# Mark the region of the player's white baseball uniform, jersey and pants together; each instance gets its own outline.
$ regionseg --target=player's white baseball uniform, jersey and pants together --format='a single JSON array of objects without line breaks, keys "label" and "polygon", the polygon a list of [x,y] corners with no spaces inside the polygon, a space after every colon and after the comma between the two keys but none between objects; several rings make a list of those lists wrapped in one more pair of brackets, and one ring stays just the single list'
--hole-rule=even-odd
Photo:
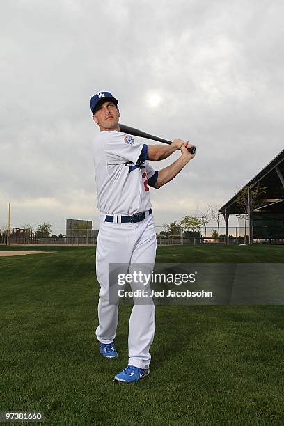
[{"label": "player's white baseball uniform, jersey and pants together", "polygon": [[[123,132],[102,131],[93,141],[100,210],[96,266],[101,288],[96,335],[102,343],[113,342],[118,325],[118,305],[109,303],[109,264],[126,264],[129,271],[135,263],[152,267],[155,264],[157,239],[148,183],[155,184],[157,171],[146,161],[147,152],[147,145],[137,143]],[[121,223],[122,216],[139,212],[145,212],[142,221]],[[109,215],[113,216],[113,223],[105,221]],[[136,284],[135,290],[137,285],[145,290],[143,283]],[[154,333],[154,304],[134,304],[129,319],[129,364],[148,367]]]}]

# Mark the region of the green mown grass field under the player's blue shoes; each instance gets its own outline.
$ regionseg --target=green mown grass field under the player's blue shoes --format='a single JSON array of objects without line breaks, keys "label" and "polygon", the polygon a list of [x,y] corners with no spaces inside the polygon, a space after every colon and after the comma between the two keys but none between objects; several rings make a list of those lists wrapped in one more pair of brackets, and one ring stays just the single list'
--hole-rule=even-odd
[{"label": "green mown grass field under the player's blue shoes", "polygon": [[[117,385],[131,308],[118,358],[102,358],[95,248],[9,249],[50,253],[0,258],[0,411],[43,411],[47,425],[284,424],[284,306],[157,306],[150,376]],[[284,246],[159,247],[157,262],[284,262]]]}]

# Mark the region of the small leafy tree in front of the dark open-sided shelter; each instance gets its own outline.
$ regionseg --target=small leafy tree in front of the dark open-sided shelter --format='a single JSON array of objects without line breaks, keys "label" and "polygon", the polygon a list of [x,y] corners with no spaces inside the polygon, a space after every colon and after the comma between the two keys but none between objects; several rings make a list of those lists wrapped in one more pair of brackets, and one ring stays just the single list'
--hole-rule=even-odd
[{"label": "small leafy tree in front of the dark open-sided shelter", "polygon": [[[265,194],[267,187],[260,187],[260,184],[251,184],[237,191],[236,203],[244,210],[244,244],[246,244],[246,214],[259,207],[262,203],[260,194]],[[249,205],[248,205],[249,194]]]}]

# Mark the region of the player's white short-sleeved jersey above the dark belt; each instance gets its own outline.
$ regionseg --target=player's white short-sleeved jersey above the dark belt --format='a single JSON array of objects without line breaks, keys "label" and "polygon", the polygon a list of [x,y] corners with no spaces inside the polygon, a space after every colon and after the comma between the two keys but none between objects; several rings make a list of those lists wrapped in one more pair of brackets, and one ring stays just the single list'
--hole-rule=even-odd
[{"label": "player's white short-sleeved jersey above the dark belt", "polygon": [[93,140],[97,207],[102,214],[130,216],[151,208],[148,179],[155,174],[148,161],[139,161],[143,143],[116,130],[102,131]]}]

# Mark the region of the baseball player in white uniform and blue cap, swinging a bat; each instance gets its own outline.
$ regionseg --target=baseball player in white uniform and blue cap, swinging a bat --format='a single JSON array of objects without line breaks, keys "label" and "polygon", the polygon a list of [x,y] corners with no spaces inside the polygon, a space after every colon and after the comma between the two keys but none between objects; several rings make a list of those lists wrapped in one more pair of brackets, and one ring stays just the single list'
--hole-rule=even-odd
[{"label": "baseball player in white uniform and blue cap, swinging a bat", "polygon": [[[195,157],[191,145],[175,139],[171,145],[146,145],[120,132],[118,100],[109,92],[90,99],[93,120],[100,127],[93,141],[93,161],[97,187],[100,227],[97,237],[96,272],[100,283],[99,325],[96,329],[100,353],[105,358],[118,356],[114,339],[118,325],[118,304],[109,303],[109,265],[155,265],[157,239],[150,188],[159,189]],[[180,150],[170,166],[155,171],[148,160],[162,160]],[[127,272],[127,271],[126,271]],[[143,288],[145,283],[136,283]],[[139,287],[140,286],[140,287]],[[133,288],[132,288],[133,290]],[[125,370],[116,374],[116,382],[134,382],[150,372],[150,345],[155,333],[155,306],[136,304],[129,319],[129,360]]]}]

